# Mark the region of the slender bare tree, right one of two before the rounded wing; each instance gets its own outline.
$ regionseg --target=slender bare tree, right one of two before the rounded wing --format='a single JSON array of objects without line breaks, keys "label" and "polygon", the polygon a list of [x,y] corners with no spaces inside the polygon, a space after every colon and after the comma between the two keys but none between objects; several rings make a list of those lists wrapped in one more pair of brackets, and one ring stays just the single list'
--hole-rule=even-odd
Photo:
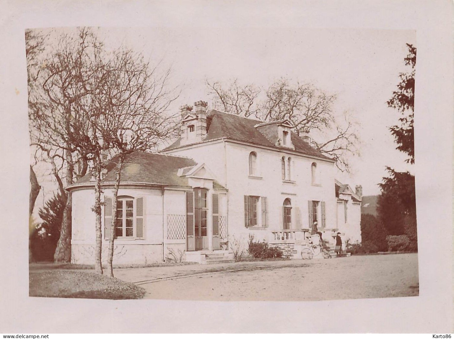
[{"label": "slender bare tree, right one of two before the rounded wing", "polygon": [[[178,98],[178,91],[168,85],[170,70],[161,72],[159,64],[152,67],[131,50],[115,51],[106,67],[109,75],[96,97],[102,110],[93,128],[102,138],[104,149],[116,154],[112,160],[116,163],[113,196],[116,206],[121,170],[128,155],[152,150],[159,142],[176,136],[179,114],[168,115],[168,108]],[[116,214],[114,208],[114,221]],[[111,277],[114,276],[114,238],[115,222],[112,222],[107,259]]]}]

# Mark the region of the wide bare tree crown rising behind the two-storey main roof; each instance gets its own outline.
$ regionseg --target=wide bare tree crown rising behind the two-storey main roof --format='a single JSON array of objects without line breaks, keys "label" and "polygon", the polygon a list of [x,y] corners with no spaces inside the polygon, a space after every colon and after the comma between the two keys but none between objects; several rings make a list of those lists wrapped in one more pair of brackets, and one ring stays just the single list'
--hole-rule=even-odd
[{"label": "wide bare tree crown rising behind the two-storey main roof", "polygon": [[280,79],[264,93],[254,85],[239,85],[238,80],[226,86],[207,81],[207,88],[214,108],[263,121],[290,120],[297,135],[310,136],[312,146],[334,158],[341,170],[348,171],[348,155],[358,153],[356,123],[346,112],[333,111],[336,95],[312,84],[291,85]]}]

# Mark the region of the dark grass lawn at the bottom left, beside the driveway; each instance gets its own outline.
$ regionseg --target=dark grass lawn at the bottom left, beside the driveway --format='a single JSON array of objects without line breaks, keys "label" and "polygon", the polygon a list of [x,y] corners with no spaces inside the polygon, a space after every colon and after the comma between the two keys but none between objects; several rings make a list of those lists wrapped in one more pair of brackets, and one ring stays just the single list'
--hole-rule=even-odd
[{"label": "dark grass lawn at the bottom left, beside the driveway", "polygon": [[30,271],[31,297],[141,299],[145,290],[120,279],[84,271]]}]

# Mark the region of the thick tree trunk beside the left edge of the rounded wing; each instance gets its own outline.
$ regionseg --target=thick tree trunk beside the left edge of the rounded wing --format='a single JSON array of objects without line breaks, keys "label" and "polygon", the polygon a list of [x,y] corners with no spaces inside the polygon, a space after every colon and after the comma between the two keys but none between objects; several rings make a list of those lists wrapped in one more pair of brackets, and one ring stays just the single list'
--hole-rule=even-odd
[{"label": "thick tree trunk beside the left edge of the rounded wing", "polygon": [[[70,151],[65,151],[66,160],[66,186],[73,184],[73,156]],[[54,253],[54,261],[61,263],[71,262],[71,194],[66,193],[66,204],[63,210],[63,219],[60,229],[60,238]]]}]

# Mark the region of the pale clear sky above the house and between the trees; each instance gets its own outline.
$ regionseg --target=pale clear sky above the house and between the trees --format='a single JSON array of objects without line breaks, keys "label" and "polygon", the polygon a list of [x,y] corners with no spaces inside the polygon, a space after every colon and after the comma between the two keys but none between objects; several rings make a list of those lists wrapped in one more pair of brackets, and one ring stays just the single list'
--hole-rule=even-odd
[{"label": "pale clear sky above the house and between the trees", "polygon": [[348,111],[360,126],[360,155],[350,159],[351,173],[338,172],[337,179],[374,195],[380,194],[377,184],[387,176],[386,166],[411,172],[388,130],[400,113],[386,101],[399,73],[410,70],[404,57],[406,43],[417,47],[413,30],[147,28],[100,34],[108,46],[122,43],[170,66],[174,83],[184,84],[179,105],[198,100],[210,105],[206,78],[263,88],[282,77],[311,82],[336,94],[335,111]]}]

